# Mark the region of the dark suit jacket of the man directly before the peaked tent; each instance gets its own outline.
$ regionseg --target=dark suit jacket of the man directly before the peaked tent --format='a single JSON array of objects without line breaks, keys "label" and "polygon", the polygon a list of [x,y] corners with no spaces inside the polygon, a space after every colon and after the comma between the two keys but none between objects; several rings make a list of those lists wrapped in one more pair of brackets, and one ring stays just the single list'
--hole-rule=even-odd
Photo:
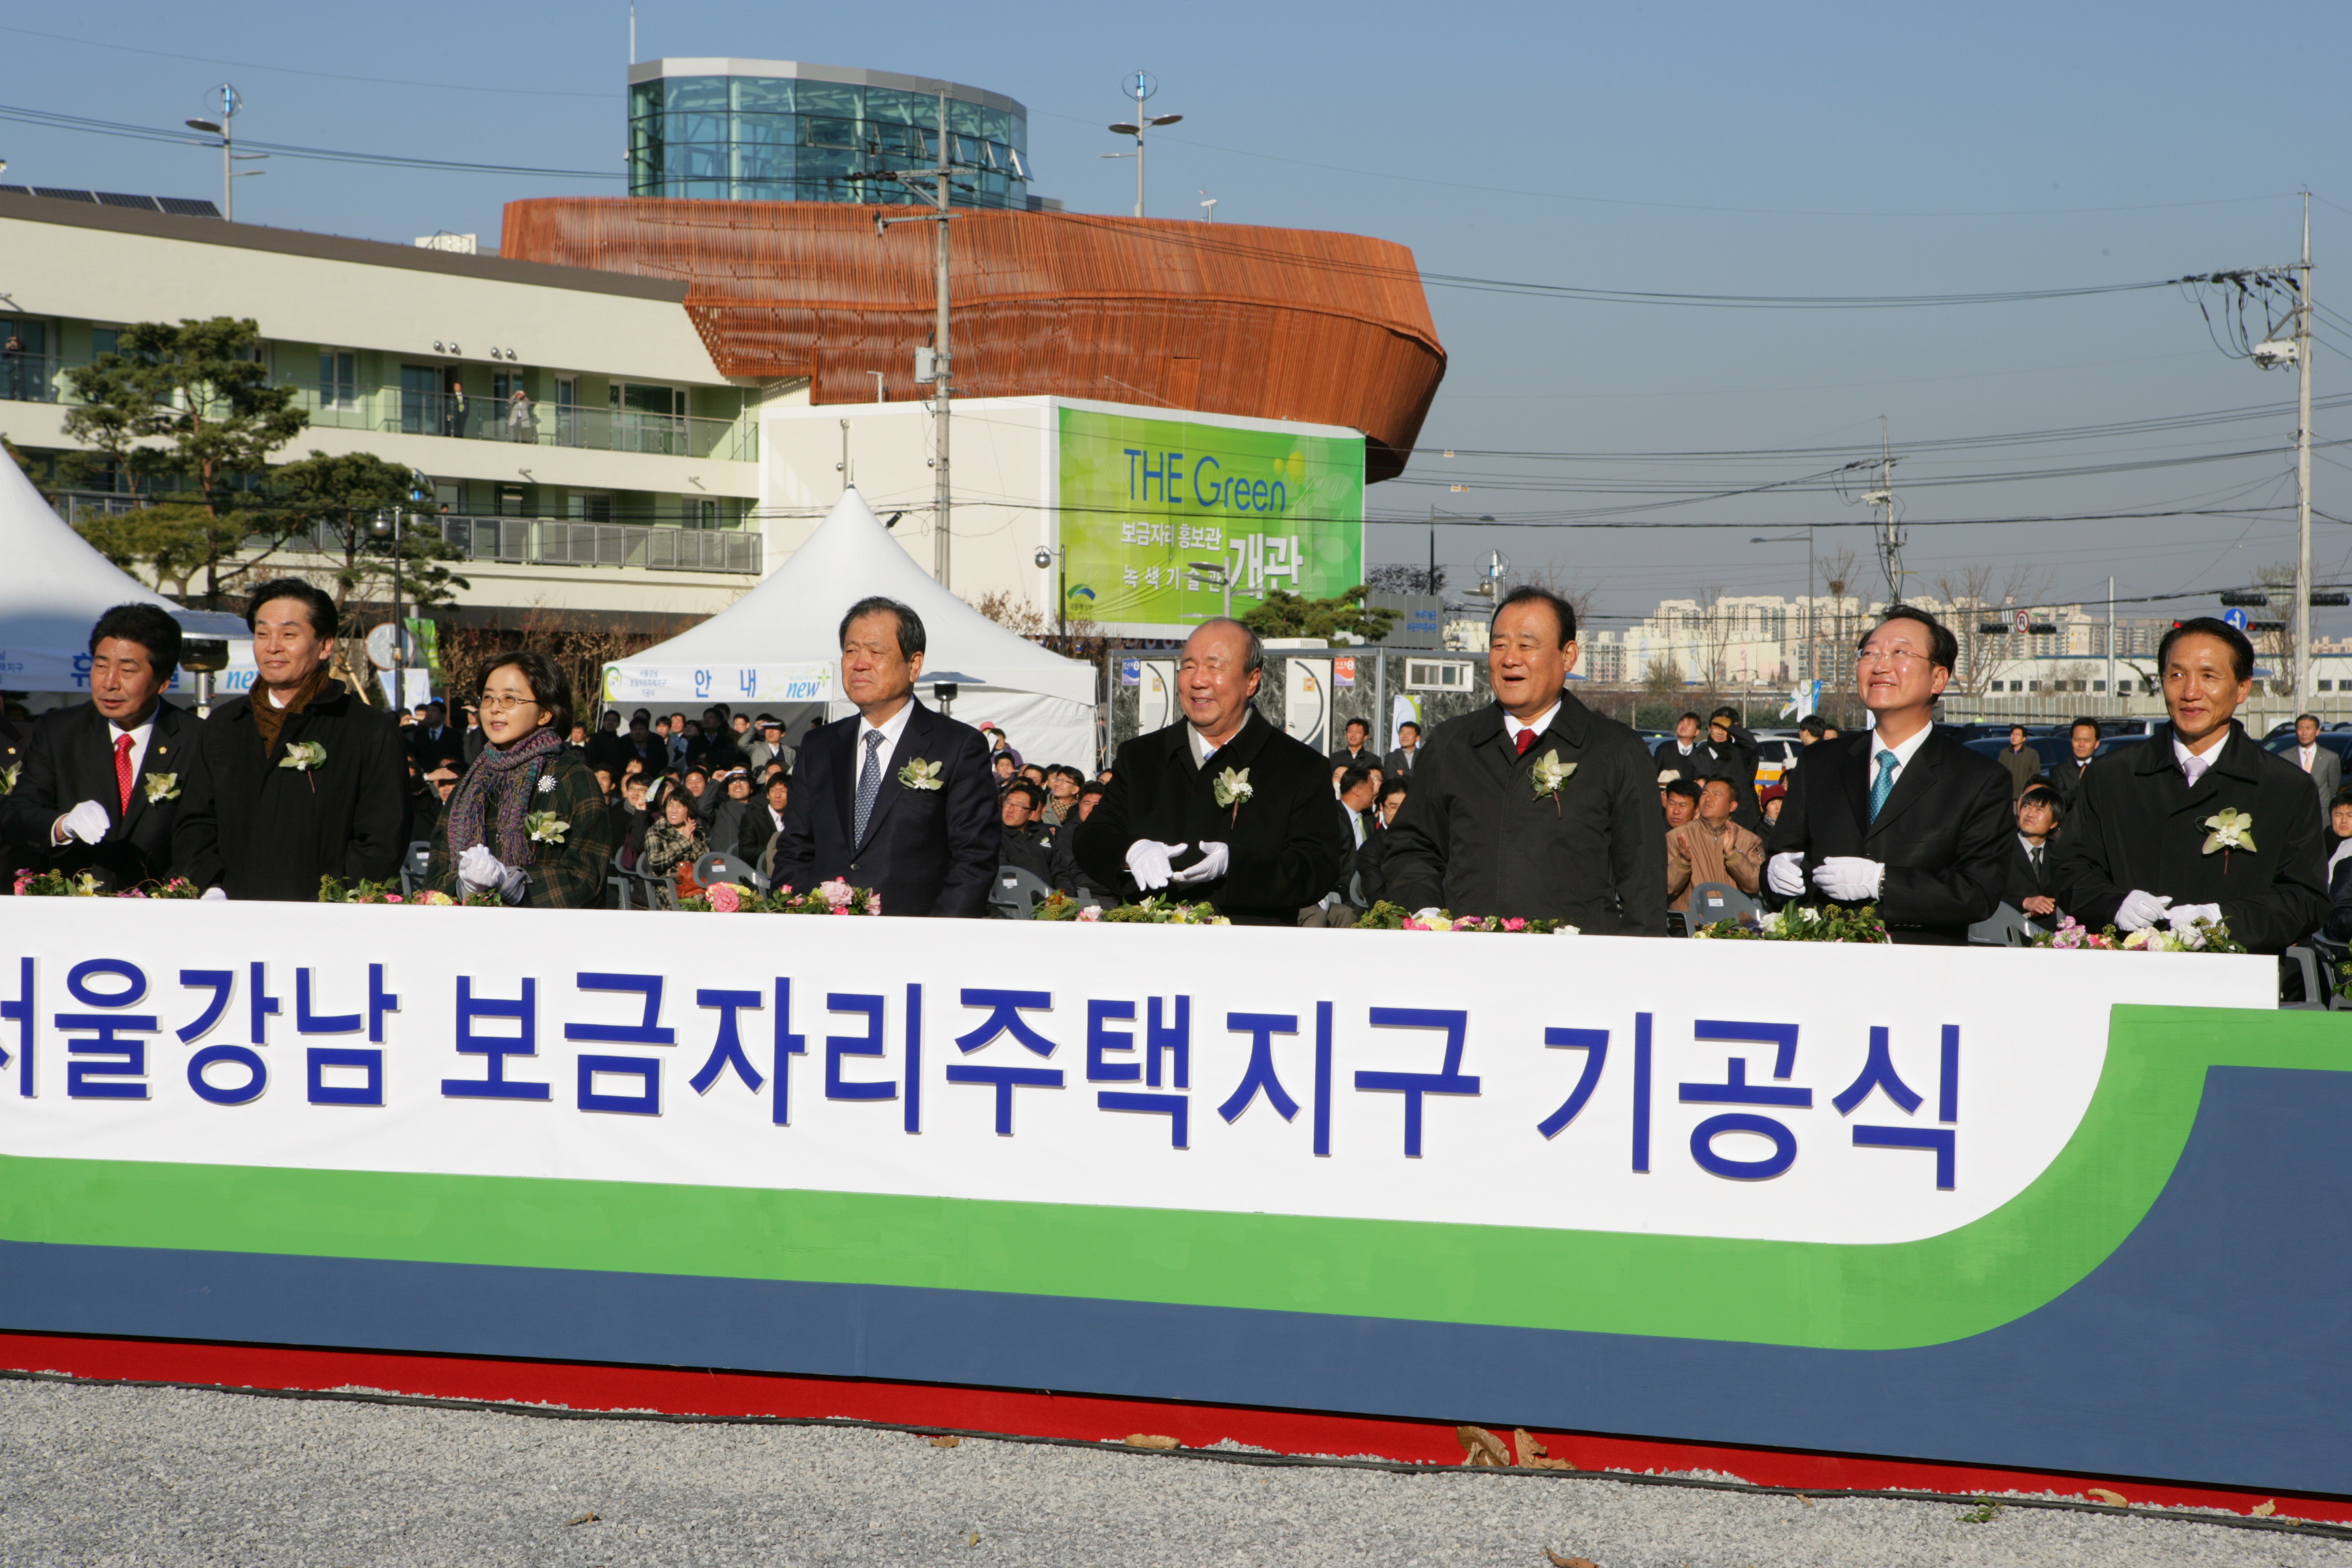
[{"label": "dark suit jacket of the man directly before the peaked tent", "polygon": [[[882,764],[882,792],[866,818],[866,842],[851,844],[858,804],[858,731],[849,715],[811,729],[800,748],[800,771],[783,802],[783,842],[776,844],[776,886],[807,893],[844,879],[873,889],[884,914],[988,912],[997,875],[997,785],[981,731],[915,705],[898,745]],[[898,769],[936,762],[936,790],[908,790]]]}]

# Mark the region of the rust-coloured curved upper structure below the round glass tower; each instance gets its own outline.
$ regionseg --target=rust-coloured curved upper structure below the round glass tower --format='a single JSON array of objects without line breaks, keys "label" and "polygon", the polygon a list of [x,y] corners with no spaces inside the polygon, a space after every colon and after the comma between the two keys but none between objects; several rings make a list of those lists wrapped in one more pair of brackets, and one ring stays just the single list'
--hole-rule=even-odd
[{"label": "rust-coloured curved upper structure below the round glass tower", "polygon": [[[727,376],[807,376],[814,402],[913,402],[931,341],[931,228],[837,202],[508,202],[501,254],[687,284]],[[1098,397],[1350,425],[1367,480],[1421,435],[1446,350],[1414,254],[1301,228],[985,212],[953,219],[960,397]]]}]

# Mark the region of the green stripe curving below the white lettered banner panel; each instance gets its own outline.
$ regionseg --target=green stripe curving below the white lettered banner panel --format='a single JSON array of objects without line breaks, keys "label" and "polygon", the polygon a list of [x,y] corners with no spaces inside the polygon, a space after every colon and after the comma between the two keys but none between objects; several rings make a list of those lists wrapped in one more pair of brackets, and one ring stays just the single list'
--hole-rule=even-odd
[{"label": "green stripe curving below the white lettered banner panel", "polygon": [[[2105,1260],[2171,1178],[2213,1065],[2345,1070],[2352,1030],[2119,1006],[2051,1168],[1973,1225],[1884,1246],[24,1157],[0,1164],[0,1237],[1898,1349],[2009,1324]],[[1966,1180],[1966,1126],[1959,1159]]]}]

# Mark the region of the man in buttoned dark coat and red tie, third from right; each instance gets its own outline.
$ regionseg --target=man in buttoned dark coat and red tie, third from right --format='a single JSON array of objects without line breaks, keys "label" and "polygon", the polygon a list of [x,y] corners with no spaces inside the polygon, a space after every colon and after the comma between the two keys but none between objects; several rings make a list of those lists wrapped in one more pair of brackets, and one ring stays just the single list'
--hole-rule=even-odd
[{"label": "man in buttoned dark coat and red tie, third from right", "polygon": [[1421,748],[1381,863],[1392,903],[1665,936],[1661,764],[1569,696],[1576,651],[1576,611],[1559,595],[1515,588],[1496,607],[1496,701]]}]

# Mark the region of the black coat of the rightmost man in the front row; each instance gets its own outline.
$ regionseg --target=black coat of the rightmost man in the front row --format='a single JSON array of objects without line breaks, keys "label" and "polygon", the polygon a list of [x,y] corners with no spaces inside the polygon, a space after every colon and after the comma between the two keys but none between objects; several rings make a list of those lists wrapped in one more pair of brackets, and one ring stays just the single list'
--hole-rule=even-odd
[{"label": "black coat of the rightmost man in the front row", "polygon": [[[2253,816],[2253,853],[2204,853],[2206,818]],[[2286,757],[2265,752],[2232,719],[2213,766],[2192,788],[2173,757],[2173,726],[2084,769],[2058,835],[2058,907],[2098,931],[2124,893],[2218,903],[2230,936],[2253,952],[2281,952],[2328,914],[2319,795]]]}]

